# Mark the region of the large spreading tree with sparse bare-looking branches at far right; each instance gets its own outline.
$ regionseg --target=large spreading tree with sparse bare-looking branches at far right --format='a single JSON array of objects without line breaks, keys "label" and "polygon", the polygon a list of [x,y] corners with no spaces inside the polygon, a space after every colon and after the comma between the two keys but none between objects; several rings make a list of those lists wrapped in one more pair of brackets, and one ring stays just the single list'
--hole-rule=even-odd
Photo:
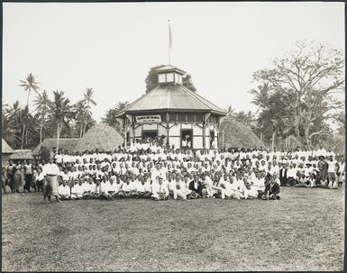
[{"label": "large spreading tree with sparse bare-looking branches at far right", "polygon": [[276,121],[279,130],[308,146],[315,136],[331,133],[324,122],[333,109],[344,107],[333,96],[344,92],[342,52],[316,42],[297,42],[296,49],[274,59],[272,67],[253,74],[260,86],[251,90],[253,103],[267,112],[260,115],[268,119],[262,123]]}]

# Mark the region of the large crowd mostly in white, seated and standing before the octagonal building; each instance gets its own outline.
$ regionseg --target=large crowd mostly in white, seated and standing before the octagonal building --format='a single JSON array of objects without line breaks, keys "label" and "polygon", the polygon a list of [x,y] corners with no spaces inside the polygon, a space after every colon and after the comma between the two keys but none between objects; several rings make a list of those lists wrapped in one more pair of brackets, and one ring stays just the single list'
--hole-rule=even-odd
[{"label": "large crowd mostly in white, seated and standing before the octagonal building", "polygon": [[49,162],[9,161],[3,188],[44,200],[280,199],[280,187],[342,187],[344,158],[318,150],[189,150],[136,141],[113,152],[53,150]]}]

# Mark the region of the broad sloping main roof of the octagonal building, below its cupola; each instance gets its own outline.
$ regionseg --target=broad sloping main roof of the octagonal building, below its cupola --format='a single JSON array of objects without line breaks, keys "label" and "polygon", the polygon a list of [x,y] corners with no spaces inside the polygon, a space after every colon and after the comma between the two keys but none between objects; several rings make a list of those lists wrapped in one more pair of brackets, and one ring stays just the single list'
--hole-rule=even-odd
[{"label": "broad sloping main roof of the octagonal building, below its cupola", "polygon": [[117,116],[156,110],[196,111],[225,115],[226,112],[204,97],[181,85],[162,84],[128,105]]}]

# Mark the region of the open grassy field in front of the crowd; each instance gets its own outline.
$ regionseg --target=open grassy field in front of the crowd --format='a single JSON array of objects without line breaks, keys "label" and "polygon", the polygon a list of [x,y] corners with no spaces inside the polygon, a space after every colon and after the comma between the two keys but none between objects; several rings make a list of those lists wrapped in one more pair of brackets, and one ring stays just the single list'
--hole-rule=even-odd
[{"label": "open grassy field in front of the crowd", "polygon": [[282,188],[269,202],[2,202],[7,271],[343,269],[344,188]]}]

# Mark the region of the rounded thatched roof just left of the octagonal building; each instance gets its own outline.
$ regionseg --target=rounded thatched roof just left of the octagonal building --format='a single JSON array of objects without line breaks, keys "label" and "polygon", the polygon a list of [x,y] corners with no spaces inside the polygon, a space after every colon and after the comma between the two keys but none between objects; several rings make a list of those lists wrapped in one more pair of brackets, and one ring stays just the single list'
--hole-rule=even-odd
[{"label": "rounded thatched roof just left of the octagonal building", "polygon": [[97,123],[78,141],[74,150],[112,151],[122,144],[123,137],[114,128],[105,123]]}]

